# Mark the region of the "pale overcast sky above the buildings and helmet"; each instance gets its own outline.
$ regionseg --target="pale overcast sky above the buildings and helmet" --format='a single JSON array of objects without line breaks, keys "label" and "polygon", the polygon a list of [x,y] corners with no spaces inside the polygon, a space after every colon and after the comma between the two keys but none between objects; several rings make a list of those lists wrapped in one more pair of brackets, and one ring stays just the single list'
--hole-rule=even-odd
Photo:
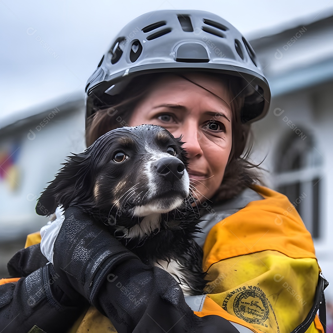
[{"label": "pale overcast sky above the buildings and helmet", "polygon": [[19,110],[84,94],[88,77],[121,28],[161,9],[210,11],[251,39],[326,17],[333,13],[333,0],[0,0],[0,127],[1,119]]}]

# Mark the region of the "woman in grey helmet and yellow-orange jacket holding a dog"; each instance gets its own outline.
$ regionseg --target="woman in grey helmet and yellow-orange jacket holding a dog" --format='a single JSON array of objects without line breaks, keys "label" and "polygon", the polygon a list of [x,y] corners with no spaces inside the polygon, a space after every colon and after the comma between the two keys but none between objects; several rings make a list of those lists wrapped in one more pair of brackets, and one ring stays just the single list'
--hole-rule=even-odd
[{"label": "woman in grey helmet and yellow-orange jacket holding a dog", "polygon": [[[147,13],[120,32],[88,80],[87,146],[124,125],[156,124],[183,136],[207,219],[198,243],[209,282],[203,295],[184,299],[168,273],[144,265],[70,207],[60,231],[48,229],[51,242],[43,235],[43,253],[56,249],[54,266],[45,265],[36,245],[10,262],[16,276],[32,273],[2,286],[8,327],[102,332],[112,320],[118,332],[323,331],[315,317],[323,285],[311,236],[289,200],[255,185],[258,175],[240,158],[250,122],[265,115],[270,100],[257,66],[241,34],[208,12]],[[22,266],[29,268],[19,272]]]}]

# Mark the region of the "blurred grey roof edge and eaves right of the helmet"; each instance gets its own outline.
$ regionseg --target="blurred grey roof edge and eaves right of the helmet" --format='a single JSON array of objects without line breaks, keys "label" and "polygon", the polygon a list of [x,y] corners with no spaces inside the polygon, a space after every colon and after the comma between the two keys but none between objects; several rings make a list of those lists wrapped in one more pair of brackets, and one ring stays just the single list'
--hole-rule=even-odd
[{"label": "blurred grey roof edge and eaves right of the helmet", "polygon": [[333,15],[250,40],[272,96],[333,80]]}]

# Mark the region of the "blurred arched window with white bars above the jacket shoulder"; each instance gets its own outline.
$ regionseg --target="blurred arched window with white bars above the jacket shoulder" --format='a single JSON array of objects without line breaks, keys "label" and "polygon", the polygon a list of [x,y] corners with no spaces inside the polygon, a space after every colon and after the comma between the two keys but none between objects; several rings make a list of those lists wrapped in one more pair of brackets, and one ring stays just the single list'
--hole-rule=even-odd
[{"label": "blurred arched window with white bars above the jacket shoulder", "polygon": [[291,133],[275,161],[275,188],[289,198],[313,238],[320,231],[320,186],[322,155],[311,136],[304,139]]}]

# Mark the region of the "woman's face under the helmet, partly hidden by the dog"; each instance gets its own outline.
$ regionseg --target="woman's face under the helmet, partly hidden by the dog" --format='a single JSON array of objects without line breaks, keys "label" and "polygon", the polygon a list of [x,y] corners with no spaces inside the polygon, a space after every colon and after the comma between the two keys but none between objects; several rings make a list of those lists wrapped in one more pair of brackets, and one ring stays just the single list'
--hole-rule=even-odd
[{"label": "woman's face under the helmet, partly hidden by the dog", "polygon": [[185,74],[210,92],[172,73],[152,85],[135,108],[129,126],[160,125],[174,137],[182,135],[189,157],[188,173],[199,202],[211,198],[223,179],[231,151],[230,93],[217,78]]}]

